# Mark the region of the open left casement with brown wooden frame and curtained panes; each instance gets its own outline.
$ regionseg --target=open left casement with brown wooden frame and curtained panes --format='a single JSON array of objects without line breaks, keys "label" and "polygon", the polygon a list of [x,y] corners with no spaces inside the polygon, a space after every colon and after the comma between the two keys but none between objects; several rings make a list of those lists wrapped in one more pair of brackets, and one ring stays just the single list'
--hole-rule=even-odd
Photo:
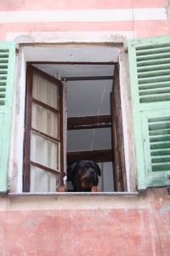
[{"label": "open left casement with brown wooden frame and curtained panes", "polygon": [[24,192],[54,192],[57,183],[62,183],[62,108],[61,81],[29,65],[26,83]]}]

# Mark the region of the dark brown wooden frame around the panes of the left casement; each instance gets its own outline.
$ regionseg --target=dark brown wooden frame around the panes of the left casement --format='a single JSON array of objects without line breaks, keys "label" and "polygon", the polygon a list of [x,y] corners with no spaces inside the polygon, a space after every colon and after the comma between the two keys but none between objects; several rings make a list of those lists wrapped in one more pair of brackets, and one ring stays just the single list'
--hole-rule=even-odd
[{"label": "dark brown wooden frame around the panes of the left casement", "polygon": [[[43,79],[47,79],[49,82],[56,84],[59,88],[59,110],[49,107],[47,104],[37,101],[32,97],[32,84],[33,84],[33,74],[37,74],[39,77]],[[54,113],[59,114],[59,139],[55,139],[54,137],[49,137],[47,134],[39,132],[31,127],[31,110],[32,110],[32,102],[36,102],[39,106],[43,108],[50,109]],[[52,139],[55,142],[59,143],[59,171],[55,171],[52,168],[48,168],[47,166],[42,166],[37,162],[31,161],[31,131],[41,134],[42,137],[47,137],[48,139]],[[27,65],[27,73],[26,73],[26,113],[25,113],[25,150],[24,150],[24,170],[23,170],[23,191],[30,192],[30,184],[31,184],[31,164],[37,167],[43,168],[46,172],[51,172],[54,174],[59,174],[59,183],[63,185],[63,177],[64,177],[64,156],[63,156],[63,84],[58,79],[54,79],[52,76],[47,73],[42,72],[37,67],[33,67],[31,65]]]}]

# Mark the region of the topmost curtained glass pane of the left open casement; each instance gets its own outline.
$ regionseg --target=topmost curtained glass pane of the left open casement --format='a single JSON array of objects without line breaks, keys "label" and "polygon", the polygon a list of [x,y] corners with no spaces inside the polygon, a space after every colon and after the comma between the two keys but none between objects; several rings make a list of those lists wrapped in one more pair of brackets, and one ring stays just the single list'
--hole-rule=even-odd
[{"label": "topmost curtained glass pane of the left open casement", "polygon": [[50,107],[59,108],[58,86],[36,74],[33,75],[32,96]]}]

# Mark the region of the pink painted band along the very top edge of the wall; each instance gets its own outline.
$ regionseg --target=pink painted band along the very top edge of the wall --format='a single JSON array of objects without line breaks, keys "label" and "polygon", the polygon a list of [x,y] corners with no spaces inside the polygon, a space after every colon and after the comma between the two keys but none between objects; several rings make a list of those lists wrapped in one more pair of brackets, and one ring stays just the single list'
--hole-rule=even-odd
[{"label": "pink painted band along the very top edge of the wall", "polygon": [[0,10],[51,10],[51,9],[131,9],[160,8],[167,5],[167,0],[30,0],[4,1],[0,0]]}]

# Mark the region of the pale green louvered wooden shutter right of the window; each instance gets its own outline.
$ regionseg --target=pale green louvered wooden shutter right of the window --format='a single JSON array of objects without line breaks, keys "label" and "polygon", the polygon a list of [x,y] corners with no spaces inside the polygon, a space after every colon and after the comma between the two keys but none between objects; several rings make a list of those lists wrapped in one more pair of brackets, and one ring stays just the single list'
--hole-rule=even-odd
[{"label": "pale green louvered wooden shutter right of the window", "polygon": [[170,185],[170,35],[128,41],[138,188]]}]

